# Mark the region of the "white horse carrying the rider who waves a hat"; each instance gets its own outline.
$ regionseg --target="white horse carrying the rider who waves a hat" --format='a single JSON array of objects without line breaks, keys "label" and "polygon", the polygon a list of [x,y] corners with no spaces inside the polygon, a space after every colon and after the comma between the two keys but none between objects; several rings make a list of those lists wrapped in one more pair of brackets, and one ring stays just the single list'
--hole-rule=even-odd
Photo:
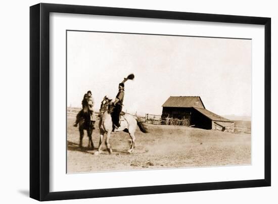
[{"label": "white horse carrying the rider who waves a hat", "polygon": [[[100,123],[99,123],[100,143],[99,143],[98,150],[95,152],[95,155],[98,155],[102,152],[101,146],[102,146],[103,137],[104,137],[105,133],[107,133],[105,144],[107,146],[109,154],[112,153],[112,148],[109,143],[109,138],[110,138],[111,132],[113,130],[111,113],[113,112],[114,106],[111,101],[112,101],[112,99],[109,99],[108,97],[105,96],[101,103],[101,109],[100,109],[100,115],[99,115],[101,118]],[[140,128],[140,130],[142,132],[147,133],[147,130],[144,127],[144,124],[142,122],[138,121],[137,117],[126,113],[120,117],[120,127],[114,130],[114,132],[124,131],[129,134],[129,136],[131,138],[130,149],[128,150],[129,153],[131,153],[134,148],[134,144],[135,144],[134,133],[135,133],[137,126]]]}]

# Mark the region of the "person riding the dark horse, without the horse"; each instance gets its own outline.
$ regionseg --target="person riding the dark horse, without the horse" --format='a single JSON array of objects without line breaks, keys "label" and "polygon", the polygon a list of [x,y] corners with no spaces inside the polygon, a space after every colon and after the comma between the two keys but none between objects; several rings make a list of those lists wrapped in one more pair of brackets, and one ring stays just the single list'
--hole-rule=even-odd
[{"label": "person riding the dark horse, without the horse", "polygon": [[94,99],[91,96],[91,91],[87,91],[87,93],[84,94],[83,100],[82,100],[82,110],[79,111],[79,113],[76,116],[76,121],[74,123],[74,127],[77,127],[77,124],[84,118],[84,106],[88,106],[89,109],[89,114],[90,114],[90,120],[92,121],[92,126],[93,129],[95,129],[95,122],[96,122],[96,117],[94,115],[94,110],[92,107],[94,106]]}]

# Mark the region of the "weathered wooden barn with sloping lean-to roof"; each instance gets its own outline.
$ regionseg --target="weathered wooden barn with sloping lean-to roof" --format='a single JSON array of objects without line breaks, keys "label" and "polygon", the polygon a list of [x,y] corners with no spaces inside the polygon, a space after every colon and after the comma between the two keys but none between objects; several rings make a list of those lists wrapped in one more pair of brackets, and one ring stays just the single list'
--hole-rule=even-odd
[{"label": "weathered wooden barn with sloping lean-to roof", "polygon": [[234,132],[235,122],[207,110],[200,96],[170,96],[162,107],[162,120],[188,119],[197,128]]}]

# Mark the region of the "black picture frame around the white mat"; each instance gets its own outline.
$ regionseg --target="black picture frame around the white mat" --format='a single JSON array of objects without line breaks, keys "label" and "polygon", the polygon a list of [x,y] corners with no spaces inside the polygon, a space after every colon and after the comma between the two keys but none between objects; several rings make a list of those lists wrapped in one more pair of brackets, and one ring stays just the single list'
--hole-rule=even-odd
[{"label": "black picture frame around the white mat", "polygon": [[[264,25],[264,179],[50,192],[50,13]],[[30,7],[30,197],[61,200],[271,185],[271,19],[262,17],[37,4]]]}]

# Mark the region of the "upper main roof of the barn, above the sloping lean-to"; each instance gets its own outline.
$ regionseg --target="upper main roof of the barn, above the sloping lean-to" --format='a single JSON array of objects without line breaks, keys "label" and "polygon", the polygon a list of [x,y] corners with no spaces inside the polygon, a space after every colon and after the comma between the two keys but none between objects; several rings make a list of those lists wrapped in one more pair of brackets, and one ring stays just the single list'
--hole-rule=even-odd
[{"label": "upper main roof of the barn, above the sloping lean-to", "polygon": [[200,99],[203,107],[205,107],[200,96],[170,96],[162,107],[191,108],[198,106],[198,104],[196,104],[198,99]]}]

